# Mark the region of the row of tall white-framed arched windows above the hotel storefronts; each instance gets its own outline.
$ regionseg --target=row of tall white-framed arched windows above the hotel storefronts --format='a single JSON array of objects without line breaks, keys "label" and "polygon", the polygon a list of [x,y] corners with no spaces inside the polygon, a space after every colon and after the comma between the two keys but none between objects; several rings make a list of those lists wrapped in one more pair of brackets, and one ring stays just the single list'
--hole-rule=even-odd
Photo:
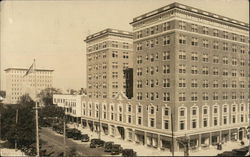
[{"label": "row of tall white-framed arched windows above the hotel storefronts", "polygon": [[[99,107],[102,107],[100,110]],[[110,104],[109,108],[107,104],[94,104],[94,103],[82,103],[83,115],[84,116],[91,116],[99,118],[99,112],[101,111],[103,119],[109,119],[112,121],[120,121],[125,123],[133,123],[132,118],[135,118],[137,125],[143,125],[143,107],[142,105],[136,106],[136,111],[133,111],[131,104],[125,104],[125,108],[122,104],[118,104],[115,108],[114,104]],[[170,129],[170,114],[171,109],[170,107],[162,107],[162,129]],[[210,123],[209,120],[213,120],[212,126],[220,126],[227,125],[227,124],[234,124],[234,123],[243,123],[247,122],[247,114],[245,111],[249,110],[248,107],[244,104],[236,105],[232,104],[230,107],[227,104],[222,106],[213,105],[213,106],[202,106],[201,111],[199,110],[198,106],[193,106],[189,109],[190,115],[190,128],[196,129],[199,128],[199,124],[202,124],[201,127],[209,127]],[[210,113],[210,110],[211,113]],[[221,110],[221,111],[220,111]],[[149,105],[146,107],[146,112],[148,112],[148,126],[149,127],[156,127],[156,114],[159,111],[158,106]],[[136,115],[132,113],[136,112]],[[201,114],[199,114],[201,112]],[[230,114],[229,114],[230,113]],[[210,116],[212,114],[212,117]],[[109,116],[108,116],[109,115]],[[178,120],[179,120],[179,129],[185,130],[187,127],[187,108],[186,107],[179,107],[178,108]],[[125,117],[125,119],[124,119]],[[220,121],[220,119],[222,120]],[[229,120],[231,118],[231,121]],[[238,120],[237,120],[238,119]],[[199,120],[201,123],[199,123]]]}]

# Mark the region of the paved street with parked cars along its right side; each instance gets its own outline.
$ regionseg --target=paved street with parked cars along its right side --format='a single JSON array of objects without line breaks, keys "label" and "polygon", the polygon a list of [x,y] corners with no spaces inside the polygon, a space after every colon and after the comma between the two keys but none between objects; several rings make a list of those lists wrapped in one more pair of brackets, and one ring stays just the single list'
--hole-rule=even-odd
[{"label": "paved street with parked cars along its right side", "polygon": [[[42,128],[40,138],[47,141],[46,148],[51,148],[55,151],[55,155],[63,152],[63,136],[52,131],[51,128]],[[72,139],[67,139],[67,152],[71,148],[76,149],[77,155],[80,156],[103,156],[108,155],[108,153],[103,151],[103,148],[89,148],[89,142],[75,141]]]}]

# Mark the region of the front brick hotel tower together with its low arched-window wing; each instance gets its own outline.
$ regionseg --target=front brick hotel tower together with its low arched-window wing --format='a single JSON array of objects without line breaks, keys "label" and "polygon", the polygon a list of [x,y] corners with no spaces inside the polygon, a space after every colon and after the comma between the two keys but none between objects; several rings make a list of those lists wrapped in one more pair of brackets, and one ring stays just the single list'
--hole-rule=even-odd
[{"label": "front brick hotel tower together with its low arched-window wing", "polygon": [[86,96],[84,127],[174,151],[249,134],[248,24],[172,3],[131,25],[134,96]]}]

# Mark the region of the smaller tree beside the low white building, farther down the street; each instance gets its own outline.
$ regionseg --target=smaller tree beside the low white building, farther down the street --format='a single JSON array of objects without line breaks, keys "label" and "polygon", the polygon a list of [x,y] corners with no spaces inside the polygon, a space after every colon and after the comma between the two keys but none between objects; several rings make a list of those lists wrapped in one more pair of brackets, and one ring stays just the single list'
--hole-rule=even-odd
[{"label": "smaller tree beside the low white building, farther down the street", "polygon": [[60,89],[56,88],[46,88],[42,90],[38,97],[44,106],[53,105],[53,94],[61,94]]}]

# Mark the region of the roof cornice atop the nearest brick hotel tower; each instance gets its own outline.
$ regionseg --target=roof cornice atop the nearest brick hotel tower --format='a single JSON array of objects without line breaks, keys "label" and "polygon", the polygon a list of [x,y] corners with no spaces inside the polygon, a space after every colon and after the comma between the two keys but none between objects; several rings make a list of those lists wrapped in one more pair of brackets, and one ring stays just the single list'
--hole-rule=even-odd
[{"label": "roof cornice atop the nearest brick hotel tower", "polygon": [[206,17],[215,18],[215,19],[222,20],[222,21],[225,21],[225,22],[228,22],[228,23],[231,23],[231,24],[235,24],[235,25],[239,25],[239,26],[249,28],[248,23],[241,22],[241,21],[238,21],[238,20],[235,20],[235,19],[231,19],[231,18],[228,18],[228,17],[225,17],[225,16],[221,16],[221,15],[218,15],[218,14],[207,12],[207,11],[204,11],[204,10],[201,10],[201,9],[197,9],[197,8],[190,7],[190,6],[180,4],[180,3],[176,3],[176,2],[171,3],[169,5],[166,5],[164,7],[161,7],[159,9],[150,11],[148,13],[145,13],[145,14],[141,15],[141,16],[135,17],[133,19],[133,22],[131,22],[130,24],[134,24],[134,23],[136,23],[138,21],[147,19],[147,18],[149,18],[151,16],[154,16],[156,14],[159,14],[159,13],[162,13],[162,12],[165,12],[165,11],[168,11],[168,10],[173,9],[173,8],[182,9],[182,10],[189,11],[189,12],[196,13],[196,14],[200,14],[200,15],[203,15],[203,16],[206,16]]}]

